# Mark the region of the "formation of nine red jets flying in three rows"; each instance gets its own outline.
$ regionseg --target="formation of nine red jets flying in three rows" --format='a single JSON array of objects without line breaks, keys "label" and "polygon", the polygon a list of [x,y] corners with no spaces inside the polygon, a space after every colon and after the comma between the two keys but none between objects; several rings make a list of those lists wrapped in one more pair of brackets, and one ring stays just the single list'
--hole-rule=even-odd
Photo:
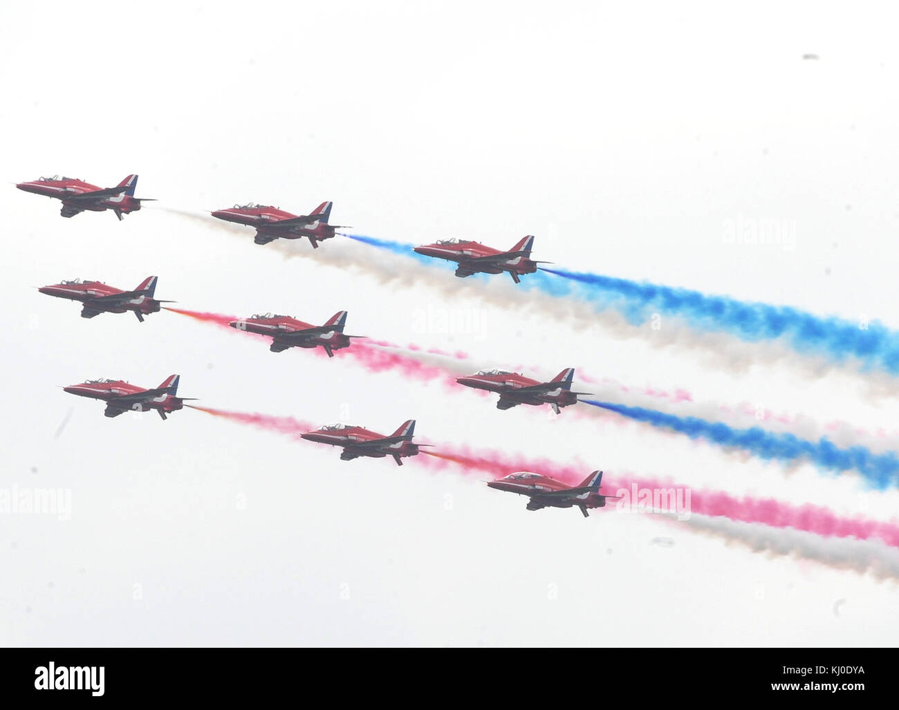
[{"label": "formation of nine red jets flying in three rows", "polygon": [[[138,175],[131,174],[116,187],[100,188],[89,182],[67,177],[41,177],[31,182],[20,182],[19,190],[60,200],[62,217],[74,217],[84,211],[102,212],[111,210],[119,220],[124,215],[141,209],[141,202],[149,198],[135,197]],[[337,229],[349,228],[330,224],[333,203],[322,202],[308,215],[296,215],[271,205],[248,203],[232,208],[211,212],[212,217],[255,229],[255,244],[269,244],[276,239],[301,239],[306,237],[313,248],[320,242],[332,239]],[[535,273],[538,262],[530,258],[534,245],[533,235],[523,237],[508,251],[494,249],[468,240],[448,239],[414,247],[416,253],[435,259],[443,259],[457,264],[455,275],[466,278],[476,273],[508,273],[512,280],[521,283],[521,277]],[[81,316],[93,318],[103,313],[121,314],[131,312],[143,323],[144,316],[158,313],[163,303],[174,303],[156,299],[158,277],[150,276],[133,290],[114,288],[96,280],[62,280],[56,284],[40,287],[40,293],[66,298],[81,303]],[[338,311],[322,325],[309,324],[293,316],[273,313],[257,314],[230,321],[236,330],[271,337],[270,350],[281,352],[289,348],[322,348],[329,358],[334,351],[352,347],[352,339],[364,335],[343,333],[347,312]],[[165,420],[169,413],[182,409],[184,402],[195,399],[178,395],[181,377],[171,375],[157,387],[144,388],[122,380],[107,378],[89,379],[76,385],[63,387],[71,395],[97,399],[106,403],[104,415],[117,417],[126,412],[156,411]],[[572,390],[574,368],[565,368],[548,382],[525,377],[504,369],[483,369],[466,377],[458,377],[459,385],[486,390],[499,395],[497,409],[506,410],[520,404],[541,406],[548,404],[556,414],[563,407],[578,402],[579,395],[586,392]],[[348,424],[333,424],[321,429],[301,434],[302,439],[342,448],[341,460],[350,461],[358,457],[392,457],[397,466],[402,459],[414,457],[420,448],[431,446],[413,440],[415,421],[404,422],[390,435]],[[588,510],[602,508],[612,496],[600,493],[601,471],[593,471],[582,484],[571,486],[546,475],[518,472],[487,482],[491,488],[508,493],[518,493],[529,497],[527,510],[541,508],[577,507],[584,517]]]}]

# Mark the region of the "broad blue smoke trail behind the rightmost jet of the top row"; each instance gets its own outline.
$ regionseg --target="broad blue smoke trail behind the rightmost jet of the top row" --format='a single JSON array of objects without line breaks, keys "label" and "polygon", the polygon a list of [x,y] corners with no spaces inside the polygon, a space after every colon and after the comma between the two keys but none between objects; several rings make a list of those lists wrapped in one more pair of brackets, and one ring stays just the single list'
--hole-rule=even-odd
[{"label": "broad blue smoke trail behind the rightmost jet of the top row", "polygon": [[[866,368],[899,374],[899,333],[877,321],[862,330],[840,318],[821,318],[789,306],[745,303],[734,298],[707,296],[686,288],[656,286],[591,273],[543,269],[579,287],[600,308],[621,311],[631,324],[643,324],[654,312],[678,315],[695,328],[724,331],[743,341],[784,338],[797,352],[823,355],[837,362],[858,358]],[[540,287],[542,288],[542,286]]]}]

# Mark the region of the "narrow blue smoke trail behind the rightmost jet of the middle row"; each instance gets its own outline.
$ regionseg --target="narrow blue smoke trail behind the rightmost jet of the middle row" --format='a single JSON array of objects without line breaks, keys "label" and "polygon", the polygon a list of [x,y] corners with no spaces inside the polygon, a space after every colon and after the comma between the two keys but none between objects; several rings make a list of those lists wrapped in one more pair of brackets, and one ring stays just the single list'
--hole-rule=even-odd
[{"label": "narrow blue smoke trail behind the rightmost jet of the middle row", "polygon": [[690,439],[706,439],[725,447],[743,448],[753,456],[765,460],[797,461],[806,459],[817,466],[832,471],[857,470],[877,489],[884,490],[899,484],[899,457],[892,451],[886,454],[874,454],[870,449],[854,446],[837,448],[829,439],[808,441],[799,439],[793,434],[773,433],[752,427],[752,429],[733,429],[721,422],[707,422],[697,417],[679,417],[674,414],[656,412],[644,407],[629,407],[624,404],[597,402],[583,399],[582,402],[601,407],[610,412],[619,413],[637,422],[646,422],[654,427],[686,434]]}]

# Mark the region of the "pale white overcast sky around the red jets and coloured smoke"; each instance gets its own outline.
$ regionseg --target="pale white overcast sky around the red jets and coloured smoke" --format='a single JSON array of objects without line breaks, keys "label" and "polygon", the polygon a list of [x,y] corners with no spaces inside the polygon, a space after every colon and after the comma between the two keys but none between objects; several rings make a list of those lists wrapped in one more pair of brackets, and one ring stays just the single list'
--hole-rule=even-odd
[{"label": "pale white overcast sky around the red jets and coloured smoke", "polygon": [[[580,460],[585,475],[885,519],[895,493],[634,423],[499,412],[467,390],[275,355],[170,313],[88,321],[31,288],[157,274],[157,297],[187,308],[314,323],[346,309],[349,332],[485,364],[581,367],[893,429],[899,406],[857,374],[814,379],[789,359],[715,369],[646,333],[621,340],[516,308],[511,280],[502,308],[427,280],[385,287],[165,209],[334,200],[332,221],[360,234],[495,246],[533,234],[535,258],[565,266],[899,328],[888,4],[90,5],[0,11],[0,485],[72,492],[70,520],[0,516],[0,643],[895,643],[893,582],[645,516],[531,513],[478,476],[346,463],[191,410],[107,420],[58,386],[156,386],[177,372],[180,394],[209,406],[385,432],[415,418],[425,439]],[[13,188],[53,173],[100,186],[139,173],[138,196],[159,202],[122,223],[63,219],[58,202]],[[726,244],[737,219],[795,226],[796,248]],[[338,239],[324,250],[380,258]],[[416,328],[429,308],[475,326]]]}]

